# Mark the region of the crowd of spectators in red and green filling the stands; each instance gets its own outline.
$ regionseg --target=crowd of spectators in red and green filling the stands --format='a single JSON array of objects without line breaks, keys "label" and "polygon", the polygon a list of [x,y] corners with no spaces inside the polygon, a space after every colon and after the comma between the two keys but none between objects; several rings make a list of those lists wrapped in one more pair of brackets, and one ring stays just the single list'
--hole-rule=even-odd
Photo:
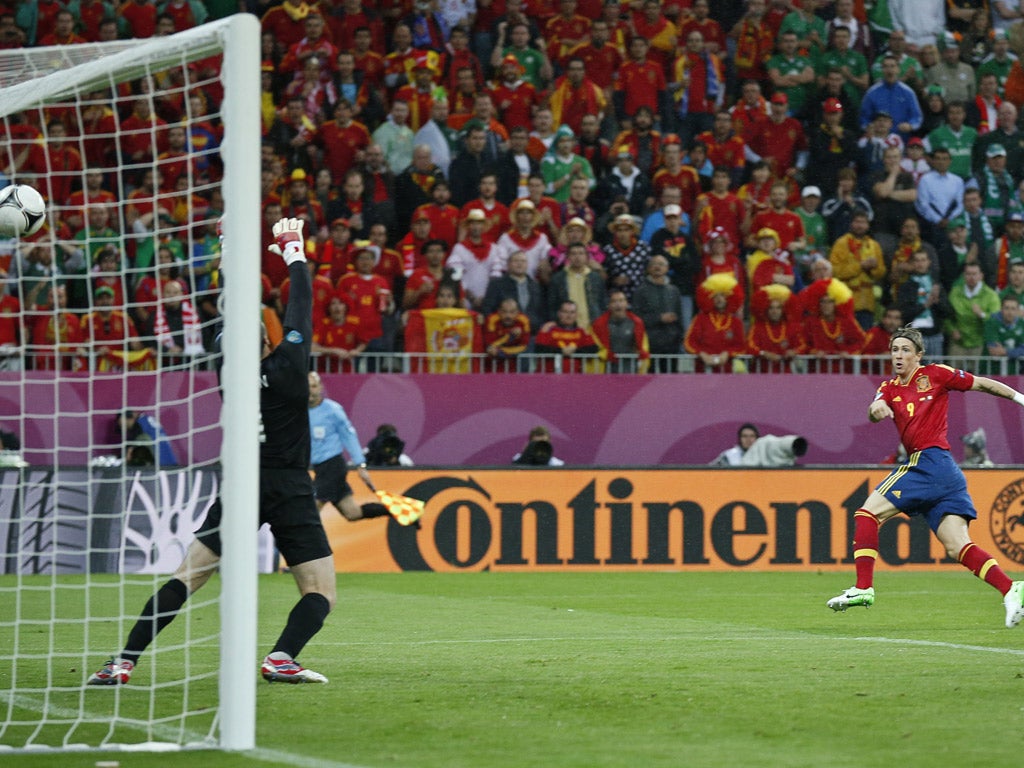
[{"label": "crowd of spectators in red and green filling the stands", "polygon": [[[436,310],[471,317],[470,348],[495,360],[546,352],[569,371],[586,353],[608,371],[680,353],[787,371],[884,354],[901,324],[932,357],[1016,361],[1024,4],[866,6],[0,0],[0,48],[258,14],[263,240],[306,221],[322,361],[420,349],[410,319]],[[61,214],[2,264],[0,349],[49,344],[35,366],[52,368],[210,348],[216,72],[7,120],[0,171]],[[268,326],[279,261],[262,261]]]}]

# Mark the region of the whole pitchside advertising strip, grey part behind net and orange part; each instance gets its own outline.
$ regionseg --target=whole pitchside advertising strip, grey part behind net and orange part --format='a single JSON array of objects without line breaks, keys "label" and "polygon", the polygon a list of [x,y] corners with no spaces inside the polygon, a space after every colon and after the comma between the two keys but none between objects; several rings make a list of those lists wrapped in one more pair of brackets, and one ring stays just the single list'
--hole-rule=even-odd
[{"label": "whole pitchside advertising strip, grey part behind net and orange part", "polygon": [[[418,527],[324,521],[339,572],[841,570],[853,514],[886,472],[380,469],[379,487],[426,502]],[[1024,569],[1024,472],[969,482],[975,541]],[[169,573],[218,487],[198,469],[0,470],[0,573]],[[882,569],[950,565],[921,518],[884,525],[879,551]],[[276,564],[264,529],[260,570]]]}]

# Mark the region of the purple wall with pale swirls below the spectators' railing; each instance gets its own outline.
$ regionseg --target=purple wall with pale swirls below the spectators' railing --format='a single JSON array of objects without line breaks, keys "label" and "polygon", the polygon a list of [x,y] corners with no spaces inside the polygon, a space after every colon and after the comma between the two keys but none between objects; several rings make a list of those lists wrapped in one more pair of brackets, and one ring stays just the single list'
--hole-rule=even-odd
[{"label": "purple wall with pale swirls below the spectators' railing", "polygon": [[[182,461],[219,457],[220,399],[190,398],[204,383],[189,386],[185,378],[212,373],[62,374],[58,381],[41,372],[26,374],[26,384],[16,376],[0,374],[0,427],[24,423],[31,464],[85,465],[95,453],[116,453],[114,415],[157,401]],[[1024,377],[1006,381],[1024,389]],[[328,396],[345,407],[364,444],[378,424],[394,424],[417,465],[446,467],[507,465],[538,424],[549,427],[555,455],[570,465],[702,465],[734,444],[745,421],[762,433],[807,437],[801,464],[876,464],[898,444],[891,424],[867,421],[878,383],[843,375],[325,376]],[[1024,464],[1024,410],[995,397],[953,395],[954,456],[963,455],[957,438],[977,427],[985,428],[996,464]]]}]

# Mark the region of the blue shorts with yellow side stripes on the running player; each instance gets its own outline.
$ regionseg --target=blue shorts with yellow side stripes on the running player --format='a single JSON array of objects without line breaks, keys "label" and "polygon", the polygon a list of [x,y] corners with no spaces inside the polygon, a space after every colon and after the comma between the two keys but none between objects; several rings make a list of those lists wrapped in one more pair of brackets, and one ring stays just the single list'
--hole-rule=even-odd
[{"label": "blue shorts with yellow side stripes on the running player", "polygon": [[932,530],[946,515],[968,520],[978,517],[967,493],[967,478],[944,449],[931,447],[910,454],[874,488],[906,515],[925,515]]}]

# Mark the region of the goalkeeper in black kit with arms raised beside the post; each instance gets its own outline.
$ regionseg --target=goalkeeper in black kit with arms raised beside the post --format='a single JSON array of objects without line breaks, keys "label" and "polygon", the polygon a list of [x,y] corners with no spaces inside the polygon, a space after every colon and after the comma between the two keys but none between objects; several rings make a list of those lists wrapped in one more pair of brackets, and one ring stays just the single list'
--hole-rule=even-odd
[{"label": "goalkeeper in black kit with arms raised beside the post", "polygon": [[[278,549],[295,578],[302,597],[292,608],[261,673],[270,682],[326,683],[307,670],[298,654],[315,635],[335,602],[335,571],[331,546],[321,523],[309,478],[309,349],[312,339],[312,285],[306,268],[300,219],[273,225],[276,247],[288,263],[292,289],[285,310],[285,338],[273,350],[263,335],[260,362],[260,524],[270,525]],[[196,531],[184,562],[150,598],[119,656],[89,677],[89,685],[127,683],[139,656],[177,615],[191,593],[205,585],[220,560],[218,499]],[[227,598],[229,599],[229,598]]]}]

